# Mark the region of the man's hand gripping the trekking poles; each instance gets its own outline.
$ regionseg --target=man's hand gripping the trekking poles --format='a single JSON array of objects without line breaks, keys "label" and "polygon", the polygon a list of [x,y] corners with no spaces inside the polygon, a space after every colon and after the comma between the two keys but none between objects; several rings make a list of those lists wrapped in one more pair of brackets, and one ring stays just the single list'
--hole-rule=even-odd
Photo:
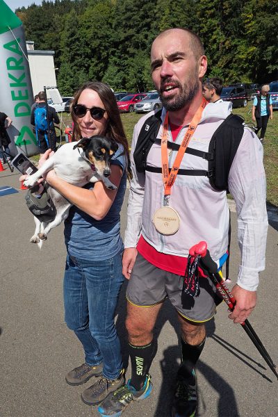
[{"label": "man's hand gripping the trekking poles", "polygon": [[242,324],[256,306],[256,291],[247,291],[236,284],[231,290],[231,294],[236,299],[236,306],[234,311],[229,314],[229,318],[234,320],[234,323]]}]

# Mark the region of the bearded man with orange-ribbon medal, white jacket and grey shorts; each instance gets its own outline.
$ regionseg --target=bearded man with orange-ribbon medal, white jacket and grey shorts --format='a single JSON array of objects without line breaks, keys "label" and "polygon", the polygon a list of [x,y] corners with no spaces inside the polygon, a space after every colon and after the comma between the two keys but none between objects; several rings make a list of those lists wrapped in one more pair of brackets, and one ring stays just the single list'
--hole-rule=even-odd
[{"label": "bearded man with orange-ribbon medal, white jacket and grey shorts", "polygon": [[[147,398],[151,393],[149,367],[155,353],[153,329],[166,297],[177,309],[181,325],[182,359],[172,416],[195,416],[195,366],[205,343],[204,322],[213,318],[218,297],[204,274],[199,277],[199,295],[183,291],[186,257],[190,247],[206,240],[213,260],[221,266],[229,243],[226,191],[215,192],[208,177],[198,176],[197,171],[196,175],[190,175],[195,169],[207,169],[209,161],[197,158],[196,154],[208,152],[211,137],[230,114],[225,106],[208,104],[204,108],[202,79],[207,62],[202,43],[187,29],[170,29],[154,40],[151,60],[152,79],[160,93],[163,111],[157,139],[145,159],[145,172],[139,172],[137,142],[144,133],[142,126],[144,134],[152,129],[152,124],[145,123],[151,119],[149,115],[142,117],[134,129],[133,180],[123,257],[123,273],[129,279],[126,328],[131,379],[99,406],[102,416],[120,416],[133,400]],[[243,136],[229,172],[229,189],[239,213],[238,243],[242,252],[238,281],[232,289],[236,307],[229,313],[229,318],[236,323],[244,322],[256,304],[268,228],[262,147],[259,140],[254,140],[250,129],[243,129],[242,122],[240,129]],[[178,149],[180,152],[181,144],[188,138],[190,152],[177,164],[183,174],[178,174],[177,180],[171,183],[167,179],[167,163],[169,167],[176,165]],[[169,148],[166,153],[165,143]],[[172,228],[170,233],[168,227]]]}]

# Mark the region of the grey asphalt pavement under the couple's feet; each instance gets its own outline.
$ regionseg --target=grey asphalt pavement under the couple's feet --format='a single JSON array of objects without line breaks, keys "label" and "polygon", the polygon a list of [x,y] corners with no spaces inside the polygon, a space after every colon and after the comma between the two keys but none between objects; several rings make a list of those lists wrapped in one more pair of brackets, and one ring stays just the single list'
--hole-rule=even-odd
[{"label": "grey asphalt pavement under the couple's feet", "polygon": [[[83,362],[83,353],[63,318],[63,225],[51,231],[39,250],[29,243],[35,223],[25,204],[26,191],[19,190],[19,175],[8,169],[0,172],[0,188],[6,186],[19,192],[0,197],[0,417],[95,417],[96,409],[80,398],[90,382],[77,387],[65,382],[65,374]],[[272,208],[266,268],[250,322],[277,363],[278,222],[274,212]],[[231,220],[230,288],[239,262],[235,213]],[[122,229],[125,223],[126,201]],[[124,287],[116,322],[127,363]],[[208,337],[197,366],[197,417],[277,417],[277,379],[242,327],[227,315],[222,303],[215,320],[207,325]],[[159,315],[155,335],[158,352],[150,370],[152,395],[126,409],[126,417],[170,417],[180,350],[179,326],[168,302]]]}]

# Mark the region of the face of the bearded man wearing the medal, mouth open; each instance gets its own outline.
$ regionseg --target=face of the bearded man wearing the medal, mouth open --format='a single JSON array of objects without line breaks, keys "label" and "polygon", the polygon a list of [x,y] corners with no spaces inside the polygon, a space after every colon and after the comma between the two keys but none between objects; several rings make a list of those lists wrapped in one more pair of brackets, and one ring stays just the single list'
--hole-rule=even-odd
[{"label": "face of the bearded man wearing the medal, mouth open", "polygon": [[152,79],[163,106],[177,111],[190,104],[202,88],[206,57],[196,60],[190,48],[190,35],[173,29],[158,36],[152,44]]}]

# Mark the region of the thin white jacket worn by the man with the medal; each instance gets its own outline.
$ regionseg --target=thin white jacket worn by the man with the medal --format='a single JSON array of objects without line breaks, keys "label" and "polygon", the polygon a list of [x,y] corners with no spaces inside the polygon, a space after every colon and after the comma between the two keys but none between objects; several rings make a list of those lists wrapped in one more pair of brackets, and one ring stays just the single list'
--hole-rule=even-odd
[{"label": "thin white jacket worn by the man with the medal", "polygon": [[[208,104],[202,114],[188,147],[208,152],[214,131],[231,112],[231,104],[222,102]],[[158,252],[188,256],[190,247],[206,240],[211,257],[218,261],[227,252],[229,231],[229,207],[226,191],[216,191],[208,177],[177,175],[172,186],[169,205],[181,219],[176,234],[164,236],[156,231],[152,218],[163,206],[164,187],[161,173],[139,173],[133,161],[133,152],[142,124],[152,113],[142,117],[133,131],[131,167],[133,179],[129,194],[125,247],[136,247],[140,234]],[[162,120],[165,117],[163,108]],[[175,143],[181,140],[188,126],[183,126]],[[162,126],[158,138],[162,136]],[[168,140],[172,141],[171,132]],[[177,151],[170,152],[169,167],[172,167]],[[147,156],[147,165],[161,167],[161,145],[154,143]],[[181,169],[208,170],[208,161],[198,156],[185,154]],[[255,291],[259,284],[259,272],[265,268],[265,245],[268,217],[265,204],[265,172],[263,147],[257,136],[247,127],[229,172],[229,190],[236,202],[238,216],[238,244],[241,263],[237,284]]]}]

